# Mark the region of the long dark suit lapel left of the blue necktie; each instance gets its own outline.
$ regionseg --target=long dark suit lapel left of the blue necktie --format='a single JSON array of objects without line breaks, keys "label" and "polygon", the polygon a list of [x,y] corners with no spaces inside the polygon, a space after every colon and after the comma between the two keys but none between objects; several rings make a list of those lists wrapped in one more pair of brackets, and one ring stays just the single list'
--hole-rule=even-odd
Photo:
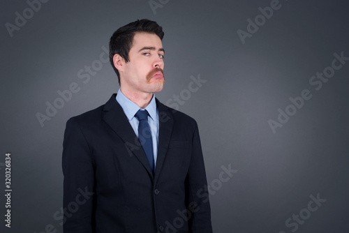
[{"label": "long dark suit lapel left of the blue necktie", "polygon": [[117,135],[119,135],[119,137],[121,137],[121,140],[124,141],[129,156],[135,155],[138,160],[140,160],[140,163],[142,163],[142,165],[145,167],[149,175],[153,178],[153,172],[151,172],[151,168],[147,160],[147,156],[143,151],[142,145],[140,144],[138,137],[135,135],[131,124],[128,122],[128,119],[124,114],[124,110],[122,110],[115,98],[116,94],[113,94],[110,100],[108,100],[105,104],[103,109],[103,120],[112,128],[112,130],[115,131],[115,133],[117,133]]}]

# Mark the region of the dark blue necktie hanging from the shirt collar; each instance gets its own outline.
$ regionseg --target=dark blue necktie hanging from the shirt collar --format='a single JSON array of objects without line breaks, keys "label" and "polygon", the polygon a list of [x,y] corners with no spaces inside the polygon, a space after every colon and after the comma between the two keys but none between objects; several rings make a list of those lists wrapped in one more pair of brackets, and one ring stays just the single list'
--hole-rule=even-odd
[{"label": "dark blue necktie hanging from the shirt collar", "polygon": [[151,130],[148,123],[148,112],[147,110],[138,110],[135,114],[140,124],[138,125],[138,139],[142,144],[143,150],[147,155],[151,171],[154,174],[154,152],[153,152],[153,141],[151,140]]}]

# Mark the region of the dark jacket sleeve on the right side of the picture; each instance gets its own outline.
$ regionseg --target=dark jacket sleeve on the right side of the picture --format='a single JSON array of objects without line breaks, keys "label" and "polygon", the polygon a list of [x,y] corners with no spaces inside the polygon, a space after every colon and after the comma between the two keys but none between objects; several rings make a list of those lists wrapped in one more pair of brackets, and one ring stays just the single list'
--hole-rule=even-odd
[{"label": "dark jacket sleeve on the right side of the picture", "polygon": [[192,141],[192,156],[186,178],[188,194],[186,198],[189,229],[191,233],[211,233],[211,209],[209,206],[209,193],[205,164],[202,156],[198,124]]}]

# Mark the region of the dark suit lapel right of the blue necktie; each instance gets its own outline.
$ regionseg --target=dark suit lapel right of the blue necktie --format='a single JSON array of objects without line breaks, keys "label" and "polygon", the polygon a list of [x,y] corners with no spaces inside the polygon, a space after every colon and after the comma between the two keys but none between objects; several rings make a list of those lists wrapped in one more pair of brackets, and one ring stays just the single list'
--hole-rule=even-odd
[{"label": "dark suit lapel right of the blue necktie", "polygon": [[173,117],[168,107],[160,103],[158,99],[156,99],[156,106],[158,107],[159,133],[158,133],[158,156],[156,159],[154,184],[158,180],[158,176],[163,167],[165,154],[168,151],[168,144],[170,144],[172,126],[173,126]]}]

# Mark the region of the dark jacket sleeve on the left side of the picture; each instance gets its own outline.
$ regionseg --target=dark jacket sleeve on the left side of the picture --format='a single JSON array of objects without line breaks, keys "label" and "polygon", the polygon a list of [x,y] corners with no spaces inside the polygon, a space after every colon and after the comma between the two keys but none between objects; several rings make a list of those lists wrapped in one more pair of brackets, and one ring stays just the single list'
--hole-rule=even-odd
[{"label": "dark jacket sleeve on the left side of the picture", "polygon": [[94,160],[77,119],[69,119],[64,133],[64,233],[94,232]]}]

